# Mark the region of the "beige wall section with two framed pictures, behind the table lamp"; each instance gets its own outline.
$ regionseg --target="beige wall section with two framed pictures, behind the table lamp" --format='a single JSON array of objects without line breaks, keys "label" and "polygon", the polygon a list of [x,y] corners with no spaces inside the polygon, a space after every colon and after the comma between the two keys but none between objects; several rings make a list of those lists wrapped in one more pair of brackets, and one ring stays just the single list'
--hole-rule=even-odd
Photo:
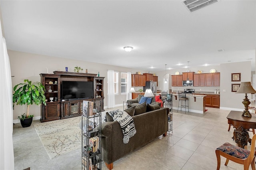
[{"label": "beige wall section with two framed pictures, behind the table lamp", "polygon": [[[245,94],[231,92],[231,84],[241,83],[231,81],[231,73],[241,73],[241,82],[251,81],[251,61],[220,64],[220,109],[243,111]],[[248,95],[250,98],[251,95]]]}]

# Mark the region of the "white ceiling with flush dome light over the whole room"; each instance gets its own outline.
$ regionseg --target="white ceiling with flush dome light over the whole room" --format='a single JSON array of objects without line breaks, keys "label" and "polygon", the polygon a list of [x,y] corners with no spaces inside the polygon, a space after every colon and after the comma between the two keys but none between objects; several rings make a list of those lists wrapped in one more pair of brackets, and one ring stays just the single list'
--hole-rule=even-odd
[{"label": "white ceiling with flush dome light over the whole room", "polygon": [[[192,13],[181,0],[0,0],[0,5],[11,50],[148,71],[187,61],[200,67],[250,59],[255,71],[255,0],[218,0]],[[125,52],[124,46],[134,49]]]}]

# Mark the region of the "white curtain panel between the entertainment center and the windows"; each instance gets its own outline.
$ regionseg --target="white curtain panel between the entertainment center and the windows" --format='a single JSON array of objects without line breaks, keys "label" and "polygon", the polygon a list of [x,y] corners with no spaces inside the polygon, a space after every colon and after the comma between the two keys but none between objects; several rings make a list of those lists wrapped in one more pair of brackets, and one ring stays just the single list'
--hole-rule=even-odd
[{"label": "white curtain panel between the entertainment center and the windows", "polygon": [[108,70],[108,108],[115,107],[114,70]]}]

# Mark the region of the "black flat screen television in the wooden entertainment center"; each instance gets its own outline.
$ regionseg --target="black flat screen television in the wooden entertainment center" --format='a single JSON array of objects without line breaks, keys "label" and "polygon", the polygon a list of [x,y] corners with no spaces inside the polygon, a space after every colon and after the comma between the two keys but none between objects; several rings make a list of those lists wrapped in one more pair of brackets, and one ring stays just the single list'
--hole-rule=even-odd
[{"label": "black flat screen television in the wooden entertainment center", "polygon": [[93,81],[62,81],[62,99],[93,98]]}]

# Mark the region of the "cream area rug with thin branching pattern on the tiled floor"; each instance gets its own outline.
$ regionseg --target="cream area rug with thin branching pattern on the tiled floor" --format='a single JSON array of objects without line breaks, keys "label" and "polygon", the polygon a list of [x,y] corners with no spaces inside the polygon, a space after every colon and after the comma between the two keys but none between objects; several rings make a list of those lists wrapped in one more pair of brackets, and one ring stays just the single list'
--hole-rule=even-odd
[{"label": "cream area rug with thin branching pattern on the tiled floor", "polygon": [[82,147],[81,117],[74,117],[34,125],[51,159]]}]

